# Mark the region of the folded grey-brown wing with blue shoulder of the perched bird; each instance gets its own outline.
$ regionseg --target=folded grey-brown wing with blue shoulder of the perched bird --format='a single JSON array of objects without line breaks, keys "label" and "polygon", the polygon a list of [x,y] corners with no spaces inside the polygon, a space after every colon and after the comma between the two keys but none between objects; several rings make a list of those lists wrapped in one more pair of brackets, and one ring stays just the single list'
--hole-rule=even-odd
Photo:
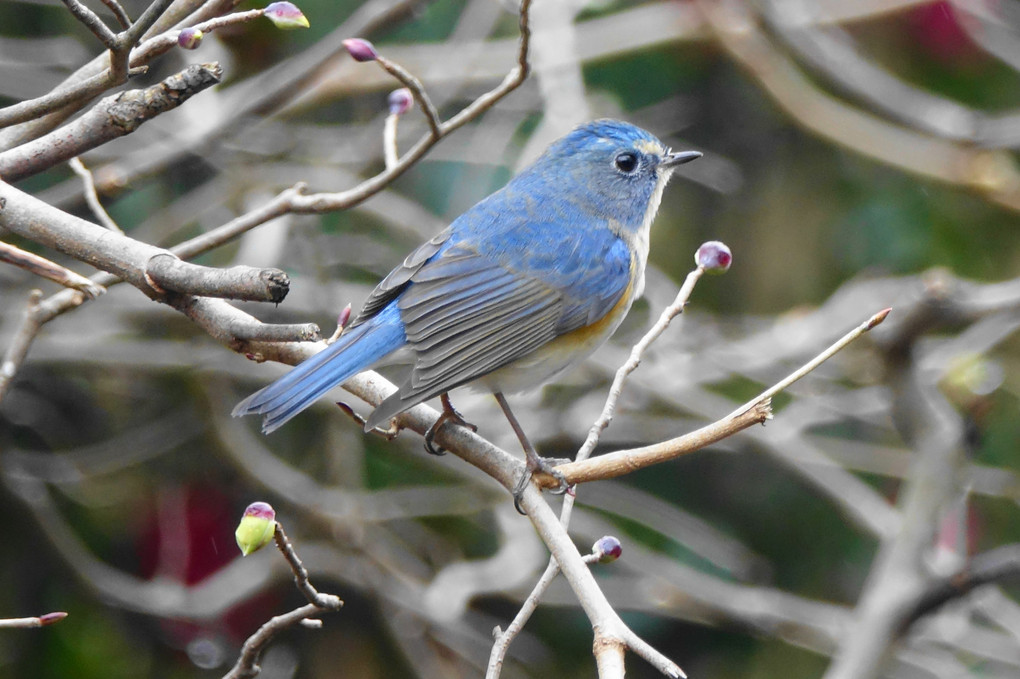
[{"label": "folded grey-brown wing with blue shoulder of the perched bird", "polygon": [[558,237],[546,225],[532,218],[531,232],[495,239],[455,230],[402,282],[394,299],[414,363],[370,424],[592,324],[620,301],[631,276],[625,244],[605,224]]}]

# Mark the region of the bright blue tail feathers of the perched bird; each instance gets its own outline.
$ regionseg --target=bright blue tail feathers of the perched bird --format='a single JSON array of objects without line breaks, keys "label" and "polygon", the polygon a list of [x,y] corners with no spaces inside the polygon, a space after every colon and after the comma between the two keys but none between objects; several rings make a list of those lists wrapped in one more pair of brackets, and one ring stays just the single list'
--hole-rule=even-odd
[{"label": "bright blue tail feathers of the perched bird", "polygon": [[371,367],[406,342],[396,308],[384,310],[239,403],[231,414],[263,415],[262,431],[274,431],[334,386]]}]

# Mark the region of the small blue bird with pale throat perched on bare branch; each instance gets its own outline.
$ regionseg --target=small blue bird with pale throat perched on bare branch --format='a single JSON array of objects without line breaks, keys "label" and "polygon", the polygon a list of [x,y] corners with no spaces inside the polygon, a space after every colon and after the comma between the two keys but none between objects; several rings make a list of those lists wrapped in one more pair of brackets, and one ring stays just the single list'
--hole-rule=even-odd
[{"label": "small blue bird with pale throat perched on bare branch", "polygon": [[321,352],[238,404],[273,431],[353,375],[409,366],[400,389],[372,411],[370,430],[472,383],[493,391],[524,447],[528,473],[547,469],[504,393],[552,379],[600,347],[645,286],[649,228],[673,169],[671,153],[618,120],[582,124],[507,186],[412,252],[372,291],[357,318]]}]

